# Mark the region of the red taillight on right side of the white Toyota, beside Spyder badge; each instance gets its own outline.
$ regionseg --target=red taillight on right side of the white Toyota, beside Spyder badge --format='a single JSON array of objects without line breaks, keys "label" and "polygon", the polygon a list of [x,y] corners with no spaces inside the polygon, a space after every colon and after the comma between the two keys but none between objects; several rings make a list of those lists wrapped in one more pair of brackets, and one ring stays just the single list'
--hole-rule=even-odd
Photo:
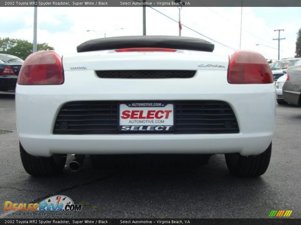
[{"label": "red taillight on right side of the white Toyota, beside Spyder badge", "polygon": [[231,84],[274,83],[267,60],[259,53],[236,51],[230,58],[228,82]]}]

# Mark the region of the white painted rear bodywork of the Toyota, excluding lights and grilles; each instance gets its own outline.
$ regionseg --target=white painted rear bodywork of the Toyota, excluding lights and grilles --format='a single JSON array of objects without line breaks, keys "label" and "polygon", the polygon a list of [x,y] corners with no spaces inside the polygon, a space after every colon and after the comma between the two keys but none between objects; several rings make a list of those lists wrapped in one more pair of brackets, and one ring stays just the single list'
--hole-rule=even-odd
[{"label": "white painted rear bodywork of the Toyota, excluding lights and grilles", "polygon": [[[198,67],[212,64],[222,67]],[[230,84],[229,56],[178,50],[116,53],[96,51],[63,56],[61,85],[18,85],[17,127],[20,143],[29,154],[135,154],[264,152],[272,141],[275,84]],[[71,67],[87,70],[71,70]],[[95,70],[197,70],[193,78],[107,79]],[[53,134],[61,106],[92,100],[219,100],[236,116],[239,133],[230,134]]]}]

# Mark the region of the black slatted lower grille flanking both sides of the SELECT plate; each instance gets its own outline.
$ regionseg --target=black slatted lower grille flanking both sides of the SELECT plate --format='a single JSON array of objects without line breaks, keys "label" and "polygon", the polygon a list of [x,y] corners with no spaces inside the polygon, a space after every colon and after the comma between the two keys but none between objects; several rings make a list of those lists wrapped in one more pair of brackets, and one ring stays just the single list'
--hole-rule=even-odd
[{"label": "black slatted lower grille flanking both sides of the SELECT plate", "polygon": [[[222,101],[172,101],[175,134],[239,133],[235,114]],[[80,101],[60,109],[54,134],[118,134],[118,101]]]}]

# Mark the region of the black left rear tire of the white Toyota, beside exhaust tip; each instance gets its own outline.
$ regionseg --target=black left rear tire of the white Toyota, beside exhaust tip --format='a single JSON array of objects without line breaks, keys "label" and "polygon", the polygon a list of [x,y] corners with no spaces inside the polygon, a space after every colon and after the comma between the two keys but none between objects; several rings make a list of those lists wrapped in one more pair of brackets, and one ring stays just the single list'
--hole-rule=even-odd
[{"label": "black left rear tire of the white Toyota, beside exhaust tip", "polygon": [[20,156],[25,171],[37,177],[52,177],[59,175],[64,169],[67,155],[55,154],[51,157],[37,157],[28,154],[20,145]]}]

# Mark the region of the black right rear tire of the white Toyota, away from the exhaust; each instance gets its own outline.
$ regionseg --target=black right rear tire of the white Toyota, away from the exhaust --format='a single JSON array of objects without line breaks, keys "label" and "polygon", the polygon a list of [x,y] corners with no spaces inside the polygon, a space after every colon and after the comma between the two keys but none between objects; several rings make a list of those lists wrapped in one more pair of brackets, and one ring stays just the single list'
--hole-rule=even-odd
[{"label": "black right rear tire of the white Toyota, away from the exhaust", "polygon": [[263,153],[256,156],[242,156],[238,153],[225,154],[227,167],[238,177],[258,177],[264,174],[269,166],[272,143]]}]

